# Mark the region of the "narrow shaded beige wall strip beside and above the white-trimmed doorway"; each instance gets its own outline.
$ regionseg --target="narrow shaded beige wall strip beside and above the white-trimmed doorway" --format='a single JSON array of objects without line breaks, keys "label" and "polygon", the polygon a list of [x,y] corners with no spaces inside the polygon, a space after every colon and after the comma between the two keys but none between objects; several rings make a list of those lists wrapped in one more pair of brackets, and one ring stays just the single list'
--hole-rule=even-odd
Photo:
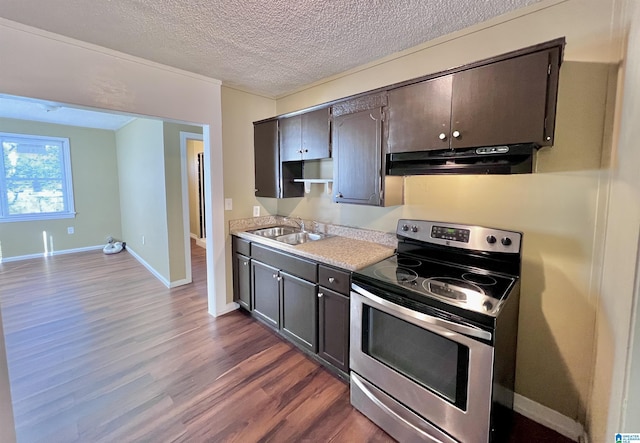
[{"label": "narrow shaded beige wall strip beside and above the white-trimmed doorway", "polygon": [[[164,178],[167,204],[167,229],[169,234],[170,282],[184,282],[189,239],[185,236],[184,210],[182,206],[182,158],[180,132],[202,134],[202,128],[177,123],[164,123]],[[184,159],[186,161],[186,158]],[[190,249],[189,249],[190,250]],[[189,263],[189,266],[190,263]]]}]

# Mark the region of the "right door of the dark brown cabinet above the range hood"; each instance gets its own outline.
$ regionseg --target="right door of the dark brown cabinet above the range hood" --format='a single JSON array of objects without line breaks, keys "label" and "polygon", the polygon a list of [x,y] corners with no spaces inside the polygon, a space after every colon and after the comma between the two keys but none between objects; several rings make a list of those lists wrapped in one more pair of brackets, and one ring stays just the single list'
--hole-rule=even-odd
[{"label": "right door of the dark brown cabinet above the range hood", "polygon": [[549,52],[454,74],[452,148],[544,143]]}]

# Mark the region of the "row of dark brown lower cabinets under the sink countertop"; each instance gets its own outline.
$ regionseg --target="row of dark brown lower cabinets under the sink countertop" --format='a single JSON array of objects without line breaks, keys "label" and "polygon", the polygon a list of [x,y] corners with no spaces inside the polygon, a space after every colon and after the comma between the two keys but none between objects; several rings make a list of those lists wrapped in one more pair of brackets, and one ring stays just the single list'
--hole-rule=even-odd
[{"label": "row of dark brown lower cabinets under the sink countertop", "polygon": [[351,273],[233,237],[233,298],[341,377],[349,371]]}]

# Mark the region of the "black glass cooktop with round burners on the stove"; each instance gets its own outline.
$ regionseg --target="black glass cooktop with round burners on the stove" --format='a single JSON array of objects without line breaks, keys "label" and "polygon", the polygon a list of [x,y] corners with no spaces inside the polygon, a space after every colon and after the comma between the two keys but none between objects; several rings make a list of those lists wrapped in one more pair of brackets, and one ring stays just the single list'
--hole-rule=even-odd
[{"label": "black glass cooktop with round burners on the stove", "polygon": [[516,279],[424,258],[396,255],[354,272],[353,281],[392,288],[396,293],[427,303],[447,305],[495,317]]}]

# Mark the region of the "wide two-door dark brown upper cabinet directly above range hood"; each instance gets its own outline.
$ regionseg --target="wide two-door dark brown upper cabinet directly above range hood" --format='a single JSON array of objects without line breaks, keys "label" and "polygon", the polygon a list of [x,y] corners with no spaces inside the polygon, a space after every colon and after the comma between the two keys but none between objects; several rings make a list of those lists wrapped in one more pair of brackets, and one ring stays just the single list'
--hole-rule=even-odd
[{"label": "wide two-door dark brown upper cabinet directly above range hood", "polygon": [[560,48],[389,91],[388,153],[553,144]]}]

